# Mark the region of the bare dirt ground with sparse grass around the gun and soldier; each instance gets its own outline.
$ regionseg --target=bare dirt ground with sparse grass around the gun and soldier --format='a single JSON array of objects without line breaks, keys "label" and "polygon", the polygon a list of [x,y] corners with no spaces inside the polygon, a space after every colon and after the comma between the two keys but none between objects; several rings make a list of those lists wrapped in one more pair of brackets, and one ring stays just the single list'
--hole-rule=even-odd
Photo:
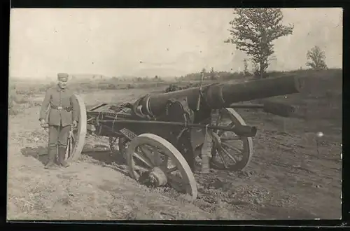
[{"label": "bare dirt ground with sparse grass around the gun and soldier", "polygon": [[[258,127],[251,164],[244,173],[195,174],[195,202],[169,188],[139,185],[109,153],[83,155],[67,169],[43,169],[41,160],[23,154],[23,148],[45,146],[48,139],[38,124],[39,106],[31,106],[9,119],[8,219],[339,219],[342,81],[330,86],[327,75],[318,76],[318,87],[305,93],[276,98],[298,106],[296,118],[238,110],[248,125]],[[132,102],[148,92],[82,96],[86,104]],[[324,136],[317,138],[316,132]],[[108,139],[87,137],[87,143],[108,144]]]}]

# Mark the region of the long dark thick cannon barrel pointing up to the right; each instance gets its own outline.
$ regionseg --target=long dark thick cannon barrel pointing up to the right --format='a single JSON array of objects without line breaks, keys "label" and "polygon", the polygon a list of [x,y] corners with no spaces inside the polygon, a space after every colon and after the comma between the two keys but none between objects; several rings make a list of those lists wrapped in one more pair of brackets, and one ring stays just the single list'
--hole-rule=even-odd
[{"label": "long dark thick cannon barrel pointing up to the right", "polygon": [[[302,87],[302,79],[297,76],[267,78],[246,83],[215,83],[202,87],[203,98],[200,106],[222,109],[237,102],[294,94],[300,92]],[[190,109],[196,111],[199,96],[198,87],[162,94],[148,94],[134,103],[134,110],[138,111],[138,114],[157,117],[164,113],[169,99],[187,97]]]}]

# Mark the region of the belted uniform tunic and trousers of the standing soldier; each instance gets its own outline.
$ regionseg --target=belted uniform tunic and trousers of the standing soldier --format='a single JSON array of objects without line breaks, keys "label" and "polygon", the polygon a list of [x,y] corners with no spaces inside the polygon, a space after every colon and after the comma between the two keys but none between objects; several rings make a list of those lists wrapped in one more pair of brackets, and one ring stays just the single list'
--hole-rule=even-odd
[{"label": "belted uniform tunic and trousers of the standing soldier", "polygon": [[71,123],[73,120],[78,121],[78,105],[73,100],[73,91],[69,88],[61,89],[58,85],[50,87],[46,91],[39,120],[45,119],[48,106],[49,146],[65,147]]}]

